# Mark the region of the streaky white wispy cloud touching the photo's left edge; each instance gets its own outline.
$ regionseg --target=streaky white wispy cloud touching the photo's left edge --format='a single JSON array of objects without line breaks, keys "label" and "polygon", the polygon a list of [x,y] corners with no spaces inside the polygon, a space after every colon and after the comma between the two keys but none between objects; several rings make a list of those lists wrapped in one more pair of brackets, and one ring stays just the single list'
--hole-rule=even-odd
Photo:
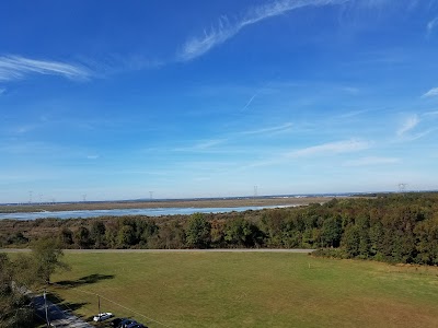
[{"label": "streaky white wispy cloud touching the photo's left edge", "polygon": [[87,80],[91,72],[80,65],[36,60],[21,56],[0,56],[0,81],[21,80],[30,74],[60,75],[71,80]]}]

